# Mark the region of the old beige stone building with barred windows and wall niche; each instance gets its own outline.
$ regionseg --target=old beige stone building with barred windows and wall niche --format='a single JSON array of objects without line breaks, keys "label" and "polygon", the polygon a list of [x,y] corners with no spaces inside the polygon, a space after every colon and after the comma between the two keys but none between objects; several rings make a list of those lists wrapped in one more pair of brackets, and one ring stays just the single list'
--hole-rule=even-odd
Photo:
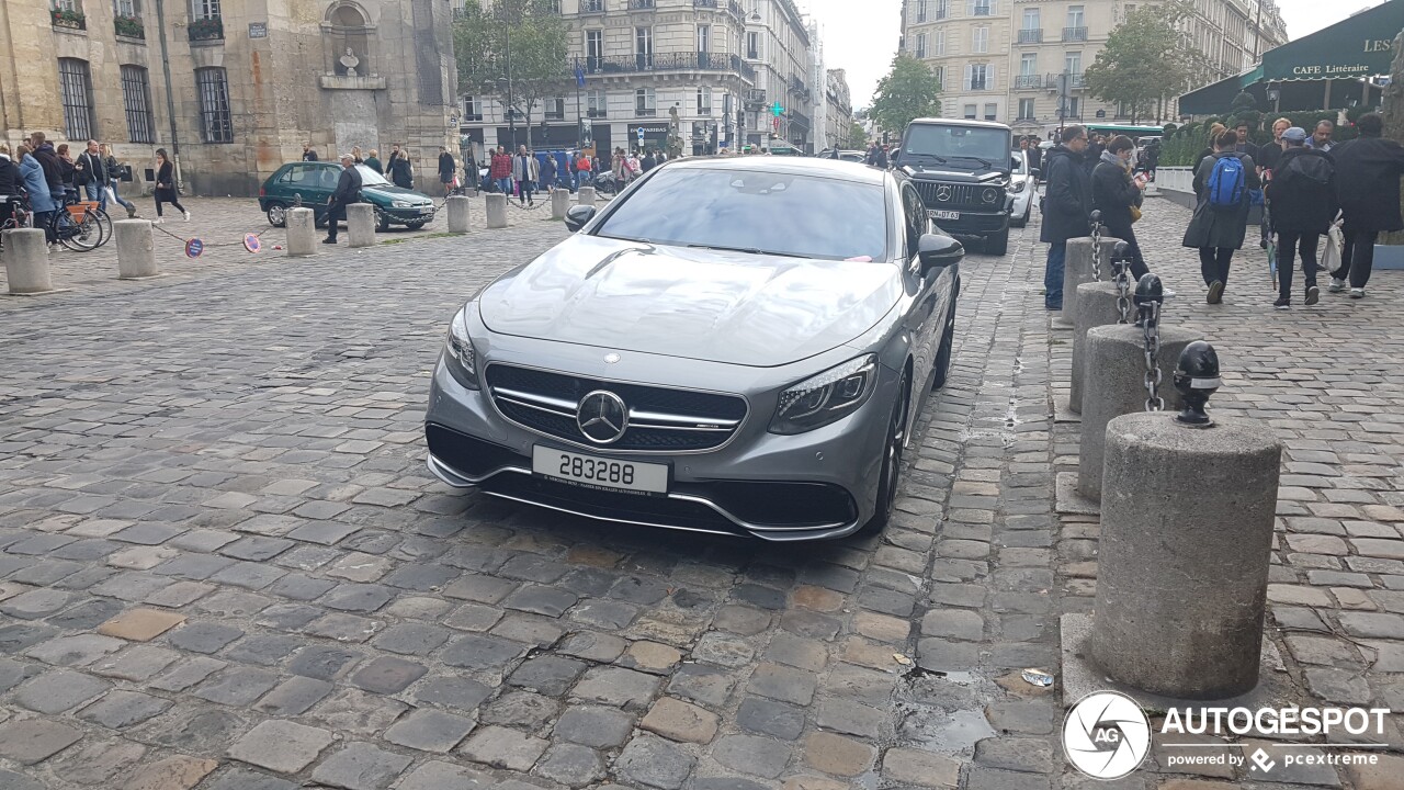
[{"label": "old beige stone building with barred windows and wall niche", "polygon": [[136,181],[156,148],[187,194],[254,195],[312,143],[322,159],[402,143],[437,188],[455,136],[439,0],[0,3],[0,129],[112,143]]}]

